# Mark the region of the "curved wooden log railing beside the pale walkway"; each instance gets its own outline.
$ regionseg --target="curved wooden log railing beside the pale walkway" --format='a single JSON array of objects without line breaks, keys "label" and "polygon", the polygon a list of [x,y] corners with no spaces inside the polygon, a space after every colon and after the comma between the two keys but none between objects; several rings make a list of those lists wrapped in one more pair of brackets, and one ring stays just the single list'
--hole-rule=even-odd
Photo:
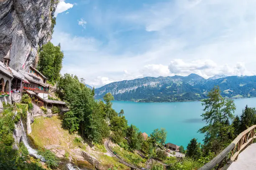
[{"label": "curved wooden log railing beside the pale walkway", "polygon": [[253,143],[253,138],[256,138],[255,130],[256,125],[253,125],[240,133],[227,148],[198,170],[212,170],[213,168],[226,170],[234,160],[238,159],[239,153]]}]

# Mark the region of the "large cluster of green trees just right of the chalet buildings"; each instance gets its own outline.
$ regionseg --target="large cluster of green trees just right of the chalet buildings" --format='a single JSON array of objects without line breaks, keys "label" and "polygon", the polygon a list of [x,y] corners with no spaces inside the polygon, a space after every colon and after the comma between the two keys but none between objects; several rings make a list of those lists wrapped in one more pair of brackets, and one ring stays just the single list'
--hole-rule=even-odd
[{"label": "large cluster of green trees just right of the chalet buildings", "polygon": [[[104,102],[95,101],[92,91],[84,86],[77,76],[65,74],[60,78],[57,87],[59,97],[69,103],[70,111],[64,114],[64,127],[68,128],[70,133],[79,130],[82,137],[86,137],[91,143],[102,143],[103,138],[110,134],[105,122]],[[109,112],[112,110],[110,108]]]}]

